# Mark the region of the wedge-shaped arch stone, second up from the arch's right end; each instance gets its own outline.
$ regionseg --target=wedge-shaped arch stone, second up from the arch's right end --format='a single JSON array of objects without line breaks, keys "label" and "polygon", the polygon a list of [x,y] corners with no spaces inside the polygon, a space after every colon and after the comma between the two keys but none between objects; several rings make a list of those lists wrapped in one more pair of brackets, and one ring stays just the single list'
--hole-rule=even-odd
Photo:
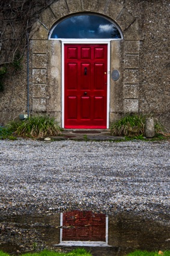
[{"label": "wedge-shaped arch stone, second up from the arch's right end", "polygon": [[120,25],[122,31],[128,28],[134,21],[135,17],[133,17],[126,8],[123,8],[116,19],[116,22]]}]

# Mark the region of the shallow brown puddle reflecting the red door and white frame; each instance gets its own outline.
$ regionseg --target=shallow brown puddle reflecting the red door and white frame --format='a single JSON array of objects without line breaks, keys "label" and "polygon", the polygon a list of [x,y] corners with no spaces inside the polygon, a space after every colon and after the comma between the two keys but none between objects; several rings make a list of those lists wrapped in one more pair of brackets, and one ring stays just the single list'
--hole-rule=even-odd
[{"label": "shallow brown puddle reflecting the red door and white frame", "polygon": [[4,252],[74,246],[83,246],[94,256],[124,255],[135,249],[165,251],[170,248],[170,227],[140,216],[78,210],[0,217],[0,250]]}]

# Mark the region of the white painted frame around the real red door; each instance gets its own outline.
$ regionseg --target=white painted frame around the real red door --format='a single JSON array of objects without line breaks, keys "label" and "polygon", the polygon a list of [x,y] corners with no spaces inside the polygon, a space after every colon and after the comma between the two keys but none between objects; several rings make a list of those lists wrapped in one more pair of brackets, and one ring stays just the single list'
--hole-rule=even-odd
[{"label": "white painted frame around the real red door", "polygon": [[64,128],[64,44],[108,44],[108,78],[107,78],[107,114],[106,114],[106,129],[109,129],[109,111],[110,111],[110,74],[111,74],[111,40],[108,39],[94,39],[94,40],[62,40],[62,128]]}]

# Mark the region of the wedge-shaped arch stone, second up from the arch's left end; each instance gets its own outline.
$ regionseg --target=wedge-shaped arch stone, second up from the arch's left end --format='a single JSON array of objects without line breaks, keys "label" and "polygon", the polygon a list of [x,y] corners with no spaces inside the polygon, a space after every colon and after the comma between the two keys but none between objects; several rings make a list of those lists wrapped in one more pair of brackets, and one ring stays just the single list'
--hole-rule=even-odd
[{"label": "wedge-shaped arch stone, second up from the arch's left end", "polygon": [[44,24],[44,26],[46,26],[46,28],[50,30],[53,23],[56,22],[56,17],[51,11],[50,7],[46,8],[46,10],[41,13],[40,20]]}]

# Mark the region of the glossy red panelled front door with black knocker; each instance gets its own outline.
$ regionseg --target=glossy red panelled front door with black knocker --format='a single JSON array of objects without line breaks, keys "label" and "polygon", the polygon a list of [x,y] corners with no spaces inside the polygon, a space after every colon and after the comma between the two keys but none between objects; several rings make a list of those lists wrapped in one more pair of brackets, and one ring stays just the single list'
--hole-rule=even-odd
[{"label": "glossy red panelled front door with black knocker", "polygon": [[64,127],[106,129],[107,44],[65,44]]}]

